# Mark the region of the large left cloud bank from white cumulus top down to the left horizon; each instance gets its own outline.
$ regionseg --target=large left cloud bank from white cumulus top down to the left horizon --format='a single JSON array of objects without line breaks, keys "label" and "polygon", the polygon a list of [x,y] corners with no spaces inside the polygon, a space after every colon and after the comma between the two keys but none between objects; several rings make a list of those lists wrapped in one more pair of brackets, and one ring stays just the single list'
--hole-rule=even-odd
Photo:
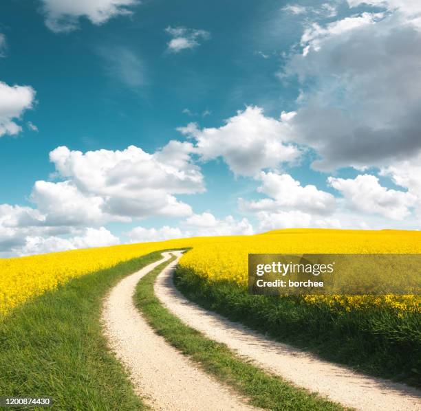
[{"label": "large left cloud bank from white cumulus top down to the left horizon", "polygon": [[40,252],[54,241],[51,250],[104,245],[101,238],[108,245],[116,237],[100,227],[110,221],[191,216],[191,207],[175,196],[204,190],[192,151],[191,143],[176,141],[153,154],[136,146],[87,153],[56,148],[50,160],[59,181],[36,181],[35,208],[0,205],[0,252]]}]

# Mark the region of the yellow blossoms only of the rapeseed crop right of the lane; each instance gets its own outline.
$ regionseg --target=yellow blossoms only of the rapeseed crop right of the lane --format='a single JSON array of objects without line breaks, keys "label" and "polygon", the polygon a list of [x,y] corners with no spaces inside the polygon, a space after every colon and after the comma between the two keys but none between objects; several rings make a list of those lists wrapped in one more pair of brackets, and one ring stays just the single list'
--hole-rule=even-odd
[{"label": "yellow blossoms only of the rapeseed crop right of the lane", "polygon": [[[212,249],[194,248],[180,264],[210,281],[230,280],[246,287],[248,253],[415,254],[421,252],[421,233],[396,230],[276,230],[257,236],[226,239]],[[334,310],[388,309],[421,313],[421,296],[303,296],[307,304]]]}]

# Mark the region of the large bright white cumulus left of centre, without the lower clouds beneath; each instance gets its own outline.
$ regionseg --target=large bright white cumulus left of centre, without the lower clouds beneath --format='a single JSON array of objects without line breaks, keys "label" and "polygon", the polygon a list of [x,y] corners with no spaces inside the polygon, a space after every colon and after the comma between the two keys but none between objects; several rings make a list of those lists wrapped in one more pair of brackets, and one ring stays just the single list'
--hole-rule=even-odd
[{"label": "large bright white cumulus left of centre, without the lower clouds beneath", "polygon": [[[204,190],[202,173],[191,163],[191,151],[191,143],[175,141],[153,154],[136,146],[87,153],[58,147],[50,153],[50,160],[65,181],[49,188],[72,190],[75,200],[83,198],[92,216],[98,218],[188,216],[191,207],[177,201],[175,195]],[[35,195],[33,198],[36,200]]]}]

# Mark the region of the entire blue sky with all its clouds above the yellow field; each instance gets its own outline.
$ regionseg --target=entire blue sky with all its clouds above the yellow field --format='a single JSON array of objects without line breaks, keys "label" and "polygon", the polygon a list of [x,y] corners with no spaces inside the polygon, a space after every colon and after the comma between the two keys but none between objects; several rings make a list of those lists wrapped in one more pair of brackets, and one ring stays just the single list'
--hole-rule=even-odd
[{"label": "entire blue sky with all its clouds above the yellow field", "polygon": [[420,13],[403,0],[4,1],[0,256],[418,230]]}]

